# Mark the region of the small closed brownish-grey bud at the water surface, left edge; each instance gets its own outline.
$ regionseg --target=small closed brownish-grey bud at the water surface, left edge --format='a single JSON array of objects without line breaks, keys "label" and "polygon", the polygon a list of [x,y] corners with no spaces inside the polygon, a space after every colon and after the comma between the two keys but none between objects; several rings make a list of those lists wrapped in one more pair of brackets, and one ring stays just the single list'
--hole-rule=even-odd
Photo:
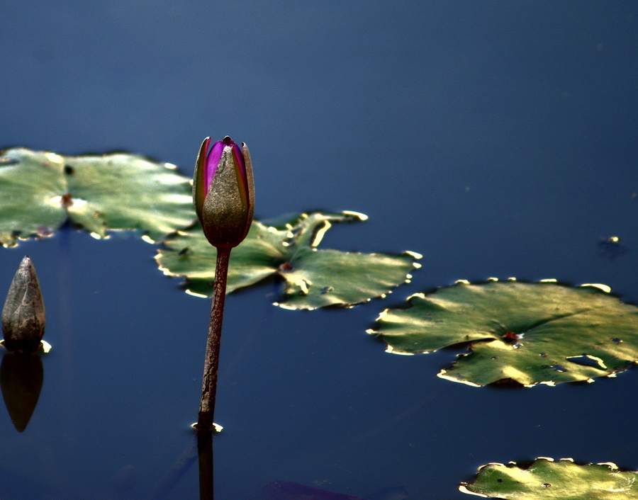
[{"label": "small closed brownish-grey bud at the water surface, left edge", "polygon": [[45,309],[38,275],[29,256],[22,259],[2,309],[2,334],[7,351],[32,353],[41,345]]}]

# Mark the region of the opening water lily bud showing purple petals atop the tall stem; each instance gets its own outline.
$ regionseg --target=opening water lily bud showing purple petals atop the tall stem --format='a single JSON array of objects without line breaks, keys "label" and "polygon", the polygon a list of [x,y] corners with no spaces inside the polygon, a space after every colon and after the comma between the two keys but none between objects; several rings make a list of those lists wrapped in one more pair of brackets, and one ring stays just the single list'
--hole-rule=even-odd
[{"label": "opening water lily bud showing purple petals atop the tall stem", "polygon": [[195,211],[211,245],[233,248],[248,234],[254,212],[250,153],[246,144],[240,148],[230,137],[209,150],[210,144],[206,137],[195,164]]}]

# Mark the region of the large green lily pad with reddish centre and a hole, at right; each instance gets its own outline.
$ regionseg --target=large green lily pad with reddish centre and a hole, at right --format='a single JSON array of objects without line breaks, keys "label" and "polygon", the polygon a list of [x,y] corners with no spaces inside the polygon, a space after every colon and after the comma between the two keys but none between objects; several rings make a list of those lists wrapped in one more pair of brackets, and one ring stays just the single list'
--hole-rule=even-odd
[{"label": "large green lily pad with reddish centre and a hole, at right", "polygon": [[368,333],[397,354],[471,343],[438,374],[454,382],[592,382],[638,361],[638,307],[600,287],[461,282],[413,295],[404,309],[386,309]]}]

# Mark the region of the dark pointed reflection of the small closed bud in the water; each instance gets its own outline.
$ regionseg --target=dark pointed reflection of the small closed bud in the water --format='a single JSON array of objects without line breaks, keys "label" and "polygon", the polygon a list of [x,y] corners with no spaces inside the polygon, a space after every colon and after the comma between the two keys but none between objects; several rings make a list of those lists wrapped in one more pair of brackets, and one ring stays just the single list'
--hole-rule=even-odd
[{"label": "dark pointed reflection of the small closed bud in the water", "polygon": [[44,381],[39,353],[5,353],[0,364],[0,387],[16,431],[23,432],[38,404]]}]

